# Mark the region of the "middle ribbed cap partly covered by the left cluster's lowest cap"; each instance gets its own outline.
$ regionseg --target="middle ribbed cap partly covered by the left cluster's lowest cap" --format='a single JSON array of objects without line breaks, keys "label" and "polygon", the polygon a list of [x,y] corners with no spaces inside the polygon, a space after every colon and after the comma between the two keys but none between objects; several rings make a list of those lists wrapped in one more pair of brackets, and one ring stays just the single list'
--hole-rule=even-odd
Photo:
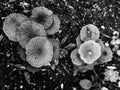
[{"label": "middle ribbed cap partly covered by the left cluster's lowest cap", "polygon": [[23,22],[16,32],[16,38],[23,48],[32,38],[37,36],[44,37],[46,32],[42,25],[34,21]]}]

